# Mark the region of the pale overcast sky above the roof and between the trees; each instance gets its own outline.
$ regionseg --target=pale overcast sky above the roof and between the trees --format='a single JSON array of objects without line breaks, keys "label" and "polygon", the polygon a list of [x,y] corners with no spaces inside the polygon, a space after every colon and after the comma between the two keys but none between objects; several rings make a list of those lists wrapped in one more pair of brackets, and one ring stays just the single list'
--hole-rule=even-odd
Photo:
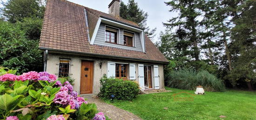
[{"label": "pale overcast sky above the roof and between the trees", "polygon": [[[108,13],[108,5],[112,0],[68,0],[82,6]],[[128,0],[122,0],[125,4]],[[138,6],[145,12],[148,13],[148,26],[153,29],[156,27],[156,36],[154,41],[159,39],[159,33],[165,30],[162,22],[166,22],[171,19],[175,13],[170,13],[169,6],[166,6],[164,1],[168,0],[135,0]]]}]

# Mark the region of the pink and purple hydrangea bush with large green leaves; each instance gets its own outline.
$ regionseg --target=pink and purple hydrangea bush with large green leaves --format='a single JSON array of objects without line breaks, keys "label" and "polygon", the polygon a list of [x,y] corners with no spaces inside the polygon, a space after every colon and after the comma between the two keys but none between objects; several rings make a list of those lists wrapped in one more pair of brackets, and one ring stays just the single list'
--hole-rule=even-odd
[{"label": "pink and purple hydrangea bush with large green leaves", "polygon": [[68,81],[47,72],[0,68],[1,120],[106,120]]}]

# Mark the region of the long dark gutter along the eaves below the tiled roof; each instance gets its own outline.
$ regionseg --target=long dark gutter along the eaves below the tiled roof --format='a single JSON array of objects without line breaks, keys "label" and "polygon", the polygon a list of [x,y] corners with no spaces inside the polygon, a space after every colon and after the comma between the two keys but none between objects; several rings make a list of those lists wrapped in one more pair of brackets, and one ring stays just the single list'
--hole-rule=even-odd
[{"label": "long dark gutter along the eaves below the tiled roof", "polygon": [[[162,63],[162,64],[168,64],[168,61],[157,61],[157,60],[149,60],[149,59],[141,59],[141,58],[133,58],[133,57],[120,57],[120,56],[110,56],[110,55],[99,55],[99,54],[94,54],[94,53],[85,53],[85,52],[77,52],[77,51],[65,51],[65,50],[56,50],[56,49],[51,49],[51,48],[43,48],[39,47],[41,50],[49,50],[49,51],[56,51],[56,52],[66,52],[66,53],[76,53],[76,54],[83,54],[83,55],[88,55],[88,56],[93,56],[93,57],[106,57],[106,58],[118,58],[118,59],[123,59],[123,60],[136,60],[136,61],[141,61],[141,62],[151,62],[151,63]],[[48,54],[48,51],[47,51]]]}]

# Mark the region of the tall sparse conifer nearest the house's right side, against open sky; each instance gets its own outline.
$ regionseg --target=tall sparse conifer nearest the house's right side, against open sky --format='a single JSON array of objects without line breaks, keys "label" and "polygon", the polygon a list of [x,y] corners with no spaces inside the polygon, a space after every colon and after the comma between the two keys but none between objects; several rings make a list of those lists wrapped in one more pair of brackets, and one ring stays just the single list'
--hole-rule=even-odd
[{"label": "tall sparse conifer nearest the house's right side, against open sky", "polygon": [[[188,45],[193,51],[191,56],[195,58],[195,61],[199,61],[199,37],[197,33],[197,27],[199,21],[196,19],[201,15],[200,8],[202,6],[201,0],[172,0],[165,2],[167,6],[170,6],[170,12],[179,11],[179,16],[169,19],[168,23],[164,23],[164,26],[169,28],[179,27],[179,30],[184,31],[184,35],[187,41],[191,42],[193,46]],[[178,32],[178,31],[177,31]]]}]

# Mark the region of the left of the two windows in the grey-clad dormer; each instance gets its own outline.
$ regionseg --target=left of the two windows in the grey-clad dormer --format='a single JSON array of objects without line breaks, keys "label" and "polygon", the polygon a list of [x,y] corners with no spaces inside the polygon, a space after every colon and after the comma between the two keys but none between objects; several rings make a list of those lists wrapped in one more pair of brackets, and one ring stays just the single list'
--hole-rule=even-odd
[{"label": "left of the two windows in the grey-clad dormer", "polygon": [[105,37],[106,42],[117,44],[118,29],[106,26]]}]

